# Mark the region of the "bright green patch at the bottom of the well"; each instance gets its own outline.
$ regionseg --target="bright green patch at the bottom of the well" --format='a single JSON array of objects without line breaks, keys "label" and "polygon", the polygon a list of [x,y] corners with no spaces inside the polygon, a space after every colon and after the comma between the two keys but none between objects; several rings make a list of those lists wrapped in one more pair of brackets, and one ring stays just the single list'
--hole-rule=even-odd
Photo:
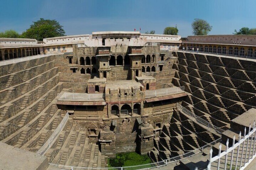
[{"label": "bright green patch at the bottom of the well", "polygon": [[108,167],[123,167],[152,163],[148,155],[140,155],[136,152],[118,153],[116,158],[108,159]]}]

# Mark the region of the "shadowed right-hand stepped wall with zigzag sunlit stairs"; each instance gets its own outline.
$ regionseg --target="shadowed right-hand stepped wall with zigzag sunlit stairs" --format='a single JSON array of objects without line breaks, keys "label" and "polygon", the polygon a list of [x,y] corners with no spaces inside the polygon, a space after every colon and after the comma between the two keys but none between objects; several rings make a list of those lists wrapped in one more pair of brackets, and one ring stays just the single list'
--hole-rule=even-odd
[{"label": "shadowed right-hand stepped wall with zigzag sunlit stairs", "polygon": [[223,128],[256,108],[256,62],[174,52],[178,62],[172,83],[189,93],[183,106]]}]

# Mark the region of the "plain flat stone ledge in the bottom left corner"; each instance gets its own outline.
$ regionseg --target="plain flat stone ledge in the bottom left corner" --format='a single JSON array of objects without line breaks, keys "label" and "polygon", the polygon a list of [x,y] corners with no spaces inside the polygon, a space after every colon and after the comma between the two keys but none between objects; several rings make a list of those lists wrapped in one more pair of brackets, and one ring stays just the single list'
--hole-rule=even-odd
[{"label": "plain flat stone ledge in the bottom left corner", "polygon": [[44,170],[48,167],[48,159],[20,148],[0,142],[0,169],[19,169],[19,170]]}]

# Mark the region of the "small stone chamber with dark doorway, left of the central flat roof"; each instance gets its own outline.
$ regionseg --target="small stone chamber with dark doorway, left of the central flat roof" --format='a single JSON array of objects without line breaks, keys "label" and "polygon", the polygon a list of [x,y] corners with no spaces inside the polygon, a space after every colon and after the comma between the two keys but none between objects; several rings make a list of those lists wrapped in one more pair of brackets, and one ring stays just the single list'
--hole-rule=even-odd
[{"label": "small stone chamber with dark doorway, left of the central flat roof", "polygon": [[100,78],[94,77],[93,79],[89,79],[87,82],[88,94],[104,93],[106,83],[107,83],[106,78],[100,79]]}]

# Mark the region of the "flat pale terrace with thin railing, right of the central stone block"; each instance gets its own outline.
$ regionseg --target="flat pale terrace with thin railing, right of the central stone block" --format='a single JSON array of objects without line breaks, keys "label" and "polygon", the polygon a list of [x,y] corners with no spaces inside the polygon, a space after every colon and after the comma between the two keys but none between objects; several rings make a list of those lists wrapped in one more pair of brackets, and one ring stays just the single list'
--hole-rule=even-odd
[{"label": "flat pale terrace with thin railing, right of the central stone block", "polygon": [[170,94],[176,94],[184,92],[184,86],[182,87],[170,87],[170,88],[161,88],[157,90],[147,90],[145,91],[145,98],[152,98],[152,97],[160,97],[166,96]]}]

